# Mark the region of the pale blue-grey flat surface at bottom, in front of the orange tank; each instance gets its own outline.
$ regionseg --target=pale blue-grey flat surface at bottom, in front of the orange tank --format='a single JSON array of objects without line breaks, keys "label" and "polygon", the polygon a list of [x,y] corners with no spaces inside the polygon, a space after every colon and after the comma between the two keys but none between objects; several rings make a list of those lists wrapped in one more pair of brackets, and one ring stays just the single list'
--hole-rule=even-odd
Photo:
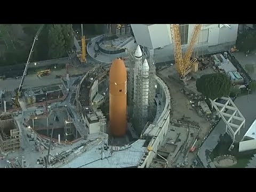
[{"label": "pale blue-grey flat surface at bottom, in front of the orange tank", "polygon": [[85,151],[82,155],[69,162],[61,168],[122,168],[138,166],[139,162],[147,151],[143,147],[145,140],[134,142],[129,148],[110,153],[110,149],[104,150],[103,155],[101,146],[97,145]]}]

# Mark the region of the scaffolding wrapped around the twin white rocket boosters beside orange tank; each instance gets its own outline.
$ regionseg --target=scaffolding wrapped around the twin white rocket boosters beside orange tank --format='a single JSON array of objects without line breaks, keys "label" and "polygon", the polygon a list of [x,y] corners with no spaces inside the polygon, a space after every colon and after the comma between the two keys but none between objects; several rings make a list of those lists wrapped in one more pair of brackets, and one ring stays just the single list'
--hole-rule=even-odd
[{"label": "scaffolding wrapped around the twin white rocket boosters beside orange tank", "polygon": [[[154,65],[154,60],[152,58],[149,58],[148,54],[144,52],[141,59],[142,63],[143,61],[145,61],[145,59],[147,59],[149,65],[149,70],[147,71],[146,76],[142,75],[142,66],[135,69],[134,52],[130,52],[129,60],[125,61],[128,73],[128,106],[130,108],[129,113],[130,116],[132,116],[133,118],[133,122],[136,122],[136,125],[134,125],[134,127],[138,131],[142,131],[143,127],[148,121],[153,121],[155,115],[154,110],[156,108],[156,68]],[[135,76],[136,74],[138,75]]]}]

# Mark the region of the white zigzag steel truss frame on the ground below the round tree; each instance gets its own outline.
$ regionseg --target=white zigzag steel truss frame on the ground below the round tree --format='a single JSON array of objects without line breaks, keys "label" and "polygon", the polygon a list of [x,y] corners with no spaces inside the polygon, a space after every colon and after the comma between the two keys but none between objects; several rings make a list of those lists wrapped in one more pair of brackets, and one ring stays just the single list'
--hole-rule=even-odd
[{"label": "white zigzag steel truss frame on the ground below the round tree", "polygon": [[[234,142],[240,142],[241,140],[236,138],[236,134],[240,134],[241,128],[245,127],[245,118],[242,113],[238,110],[235,103],[231,98],[222,97],[220,100],[211,100],[212,107],[214,107],[219,114],[219,117],[226,124],[226,132],[230,135]],[[220,103],[220,101],[223,101]]]}]

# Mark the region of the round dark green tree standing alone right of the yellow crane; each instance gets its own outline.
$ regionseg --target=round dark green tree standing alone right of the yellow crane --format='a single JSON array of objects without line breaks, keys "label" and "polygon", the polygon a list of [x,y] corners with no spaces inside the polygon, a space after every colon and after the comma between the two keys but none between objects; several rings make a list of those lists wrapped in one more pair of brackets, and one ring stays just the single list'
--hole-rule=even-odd
[{"label": "round dark green tree standing alone right of the yellow crane", "polygon": [[230,79],[222,73],[203,75],[196,81],[196,89],[210,99],[230,94]]}]

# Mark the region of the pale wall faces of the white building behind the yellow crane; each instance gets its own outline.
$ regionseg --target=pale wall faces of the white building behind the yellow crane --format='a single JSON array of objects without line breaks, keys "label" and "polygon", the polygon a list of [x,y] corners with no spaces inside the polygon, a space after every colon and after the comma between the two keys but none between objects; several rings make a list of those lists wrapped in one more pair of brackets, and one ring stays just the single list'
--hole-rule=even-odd
[{"label": "pale wall faces of the white building behind the yellow crane", "polygon": [[[172,44],[170,24],[131,24],[134,37],[139,45],[149,48],[158,48]],[[188,42],[193,33],[195,24],[189,24]],[[231,24],[231,29],[221,24],[203,24],[201,30],[201,41],[207,46],[214,46],[229,42],[235,42],[237,38],[238,24]],[[203,38],[204,36],[204,38]],[[208,38],[207,38],[208,36]],[[184,45],[183,47],[186,47]]]}]

